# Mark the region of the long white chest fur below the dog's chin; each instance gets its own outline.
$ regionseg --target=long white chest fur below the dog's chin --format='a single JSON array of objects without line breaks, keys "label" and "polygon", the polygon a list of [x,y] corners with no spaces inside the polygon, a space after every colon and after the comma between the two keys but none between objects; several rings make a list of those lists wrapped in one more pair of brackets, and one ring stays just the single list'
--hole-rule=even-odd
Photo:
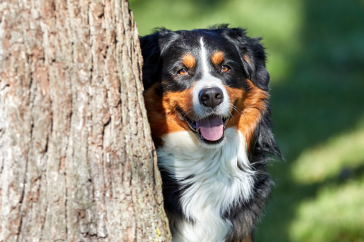
[{"label": "long white chest fur below the dog's chin", "polygon": [[[193,132],[176,132],[163,137],[158,148],[161,169],[174,174],[181,185],[192,184],[181,196],[184,214],[194,222],[178,223],[175,242],[220,242],[232,224],[222,214],[235,203],[248,200],[253,190],[254,171],[240,131],[225,131],[226,142],[205,148]],[[239,167],[242,167],[240,169]]]}]

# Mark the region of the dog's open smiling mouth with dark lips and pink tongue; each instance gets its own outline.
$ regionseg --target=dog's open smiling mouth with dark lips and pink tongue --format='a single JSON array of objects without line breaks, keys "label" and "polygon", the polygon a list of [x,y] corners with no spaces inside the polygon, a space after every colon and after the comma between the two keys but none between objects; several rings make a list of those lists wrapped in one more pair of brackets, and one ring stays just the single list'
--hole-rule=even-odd
[{"label": "dog's open smiling mouth with dark lips and pink tongue", "polygon": [[188,127],[198,134],[200,141],[206,144],[219,144],[224,140],[224,129],[229,117],[211,115],[202,120],[193,121],[181,112]]}]

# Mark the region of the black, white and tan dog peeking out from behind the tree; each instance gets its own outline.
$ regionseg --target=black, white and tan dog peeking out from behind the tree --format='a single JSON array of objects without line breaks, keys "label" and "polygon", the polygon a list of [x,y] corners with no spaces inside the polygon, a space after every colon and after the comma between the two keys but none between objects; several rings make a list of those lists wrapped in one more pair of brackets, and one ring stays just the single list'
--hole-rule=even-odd
[{"label": "black, white and tan dog peeking out from behind the tree", "polygon": [[281,157],[260,38],[241,28],[140,37],[147,117],[173,241],[254,241]]}]

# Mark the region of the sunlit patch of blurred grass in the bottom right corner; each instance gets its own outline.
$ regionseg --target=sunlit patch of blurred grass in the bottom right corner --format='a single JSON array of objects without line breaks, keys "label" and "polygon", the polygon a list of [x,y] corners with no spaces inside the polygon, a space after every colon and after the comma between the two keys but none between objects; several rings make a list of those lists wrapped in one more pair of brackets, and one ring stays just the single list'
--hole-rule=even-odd
[{"label": "sunlit patch of blurred grass in the bottom right corner", "polygon": [[292,241],[364,241],[364,178],[324,186],[301,201],[290,225]]}]

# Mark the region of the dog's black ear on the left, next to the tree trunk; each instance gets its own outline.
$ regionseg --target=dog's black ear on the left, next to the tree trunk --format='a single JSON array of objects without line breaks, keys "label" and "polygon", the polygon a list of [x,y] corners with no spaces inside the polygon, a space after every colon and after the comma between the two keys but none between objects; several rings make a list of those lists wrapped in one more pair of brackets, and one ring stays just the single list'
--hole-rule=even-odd
[{"label": "dog's black ear on the left, next to the tree trunk", "polygon": [[156,32],[145,37],[140,37],[140,48],[144,60],[142,66],[142,83],[144,89],[149,89],[152,84],[158,82],[162,73],[162,55],[173,42],[175,33],[164,28],[158,28]]}]

